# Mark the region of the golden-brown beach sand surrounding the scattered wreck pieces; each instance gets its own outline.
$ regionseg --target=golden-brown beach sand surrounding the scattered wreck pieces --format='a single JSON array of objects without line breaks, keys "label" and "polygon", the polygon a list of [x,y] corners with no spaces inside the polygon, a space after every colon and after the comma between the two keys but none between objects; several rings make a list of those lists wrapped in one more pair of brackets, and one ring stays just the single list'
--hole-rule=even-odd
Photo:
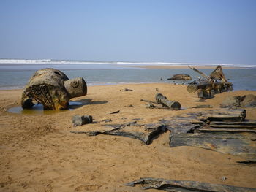
[{"label": "golden-brown beach sand surrounding the scattered wreck pieces", "polygon": [[[133,91],[120,91],[124,88]],[[140,177],[256,188],[255,166],[236,163],[241,160],[238,156],[197,147],[170,148],[168,132],[151,145],[127,137],[70,133],[96,130],[102,124],[74,128],[73,115],[92,115],[95,121],[112,119],[111,123],[134,118],[141,119],[138,123],[154,123],[168,116],[208,110],[189,109],[196,104],[217,108],[226,96],[256,95],[256,91],[233,91],[202,103],[186,88],[170,84],[93,86],[87,96],[73,99],[83,102],[82,107],[52,115],[7,112],[20,105],[21,90],[0,91],[0,191],[141,191],[124,186]],[[184,110],[146,109],[140,99],[154,101],[156,93],[179,101]],[[131,104],[133,107],[129,107]],[[120,112],[110,115],[116,110]],[[247,108],[246,113],[247,119],[256,120],[256,109]]]}]

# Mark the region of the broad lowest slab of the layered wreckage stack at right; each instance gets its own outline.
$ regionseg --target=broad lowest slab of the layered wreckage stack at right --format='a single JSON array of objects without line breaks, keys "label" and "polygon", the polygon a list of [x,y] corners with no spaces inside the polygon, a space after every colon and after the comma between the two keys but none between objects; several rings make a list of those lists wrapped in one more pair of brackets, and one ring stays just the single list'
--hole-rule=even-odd
[{"label": "broad lowest slab of the layered wreckage stack at right", "polygon": [[256,159],[255,134],[170,134],[170,147],[192,146]]}]

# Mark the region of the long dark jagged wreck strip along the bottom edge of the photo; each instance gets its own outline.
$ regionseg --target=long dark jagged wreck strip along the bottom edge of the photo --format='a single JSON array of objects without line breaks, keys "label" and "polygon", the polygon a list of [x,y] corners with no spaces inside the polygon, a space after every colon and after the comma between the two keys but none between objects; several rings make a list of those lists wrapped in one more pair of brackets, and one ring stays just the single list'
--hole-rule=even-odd
[{"label": "long dark jagged wreck strip along the bottom edge of the photo", "polygon": [[125,184],[134,187],[139,185],[142,189],[156,188],[173,192],[255,192],[256,188],[241,188],[232,185],[219,185],[212,183],[201,183],[187,180],[165,180],[160,178],[141,178]]}]

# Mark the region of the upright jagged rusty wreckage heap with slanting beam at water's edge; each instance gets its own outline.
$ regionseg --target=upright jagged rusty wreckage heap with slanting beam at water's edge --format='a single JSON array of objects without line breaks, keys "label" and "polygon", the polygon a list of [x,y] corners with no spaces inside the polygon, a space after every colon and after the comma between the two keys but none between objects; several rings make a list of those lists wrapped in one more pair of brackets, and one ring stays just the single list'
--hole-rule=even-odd
[{"label": "upright jagged rusty wreckage heap with slanting beam at water's edge", "polygon": [[195,93],[197,91],[199,98],[211,99],[214,94],[233,90],[233,84],[226,79],[225,74],[222,72],[222,66],[217,66],[210,75],[206,75],[194,67],[189,68],[202,76],[198,80],[189,83],[187,86],[189,93]]}]

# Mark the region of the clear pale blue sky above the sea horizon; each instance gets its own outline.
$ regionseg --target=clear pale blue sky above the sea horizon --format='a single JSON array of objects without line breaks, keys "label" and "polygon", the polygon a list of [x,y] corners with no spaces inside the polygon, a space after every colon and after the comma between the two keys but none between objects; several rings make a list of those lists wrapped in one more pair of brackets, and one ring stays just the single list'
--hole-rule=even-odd
[{"label": "clear pale blue sky above the sea horizon", "polygon": [[256,64],[256,1],[0,1],[0,58]]}]

